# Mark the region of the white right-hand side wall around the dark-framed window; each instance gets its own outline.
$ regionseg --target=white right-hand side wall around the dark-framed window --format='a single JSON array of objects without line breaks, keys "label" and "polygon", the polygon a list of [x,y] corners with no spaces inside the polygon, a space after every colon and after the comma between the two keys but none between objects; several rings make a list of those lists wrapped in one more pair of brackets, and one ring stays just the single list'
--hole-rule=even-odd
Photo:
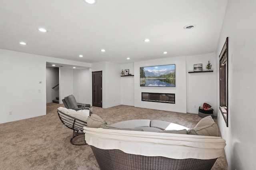
[{"label": "white right-hand side wall around the dark-framed window", "polygon": [[[218,123],[222,138],[226,140],[226,158],[230,170],[252,170],[256,167],[256,1],[229,0],[216,55],[226,37],[229,57],[228,127],[218,110]],[[218,57],[216,65],[218,67]],[[219,98],[219,72],[216,73],[217,99]],[[219,107],[219,99],[217,100]]]}]

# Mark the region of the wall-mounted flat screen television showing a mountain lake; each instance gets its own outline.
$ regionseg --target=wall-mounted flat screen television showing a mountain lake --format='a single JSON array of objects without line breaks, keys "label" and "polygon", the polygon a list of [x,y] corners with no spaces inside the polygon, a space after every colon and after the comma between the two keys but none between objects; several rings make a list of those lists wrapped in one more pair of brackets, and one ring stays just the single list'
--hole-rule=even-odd
[{"label": "wall-mounted flat screen television showing a mountain lake", "polygon": [[140,67],[140,86],[175,87],[175,64]]}]

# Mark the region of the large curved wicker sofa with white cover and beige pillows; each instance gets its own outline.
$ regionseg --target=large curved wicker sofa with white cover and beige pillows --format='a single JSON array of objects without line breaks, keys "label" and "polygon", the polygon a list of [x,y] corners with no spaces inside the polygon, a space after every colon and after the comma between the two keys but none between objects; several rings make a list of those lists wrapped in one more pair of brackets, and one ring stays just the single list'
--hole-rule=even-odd
[{"label": "large curved wicker sofa with white cover and beige pillows", "polygon": [[210,170],[224,154],[211,116],[194,129],[145,119],[106,125],[96,117],[88,117],[84,132],[102,170]]}]

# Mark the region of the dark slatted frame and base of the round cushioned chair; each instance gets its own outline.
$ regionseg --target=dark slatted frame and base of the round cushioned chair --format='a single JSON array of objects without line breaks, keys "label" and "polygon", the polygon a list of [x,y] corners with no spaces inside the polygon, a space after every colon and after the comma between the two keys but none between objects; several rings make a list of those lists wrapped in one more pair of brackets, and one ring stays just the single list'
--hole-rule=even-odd
[{"label": "dark slatted frame and base of the round cushioned chair", "polygon": [[[61,111],[59,111],[57,109],[57,113],[58,113],[58,116],[60,118],[60,121],[68,128],[72,129],[73,130],[73,136],[72,138],[70,139],[70,143],[73,144],[73,145],[85,145],[87,144],[86,141],[84,140],[84,143],[82,144],[75,144],[74,143],[74,138],[77,137],[77,136],[81,136],[83,135],[84,136],[84,132],[83,132],[83,127],[86,127],[87,125],[87,122],[85,121],[81,121],[79,119],[76,119],[70,115],[67,115],[65,113],[62,113]],[[86,125],[84,125],[86,124]]]}]

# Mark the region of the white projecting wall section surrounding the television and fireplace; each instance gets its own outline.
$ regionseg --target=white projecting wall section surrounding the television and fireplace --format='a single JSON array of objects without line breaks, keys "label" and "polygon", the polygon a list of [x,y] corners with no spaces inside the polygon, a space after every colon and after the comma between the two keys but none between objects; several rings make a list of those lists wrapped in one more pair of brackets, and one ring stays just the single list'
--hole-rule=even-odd
[{"label": "white projecting wall section surrounding the television and fireplace", "polygon": [[[140,67],[176,65],[176,87],[140,87]],[[141,101],[141,93],[175,93],[175,104]],[[134,63],[134,106],[186,113],[186,57],[171,57]]]}]

